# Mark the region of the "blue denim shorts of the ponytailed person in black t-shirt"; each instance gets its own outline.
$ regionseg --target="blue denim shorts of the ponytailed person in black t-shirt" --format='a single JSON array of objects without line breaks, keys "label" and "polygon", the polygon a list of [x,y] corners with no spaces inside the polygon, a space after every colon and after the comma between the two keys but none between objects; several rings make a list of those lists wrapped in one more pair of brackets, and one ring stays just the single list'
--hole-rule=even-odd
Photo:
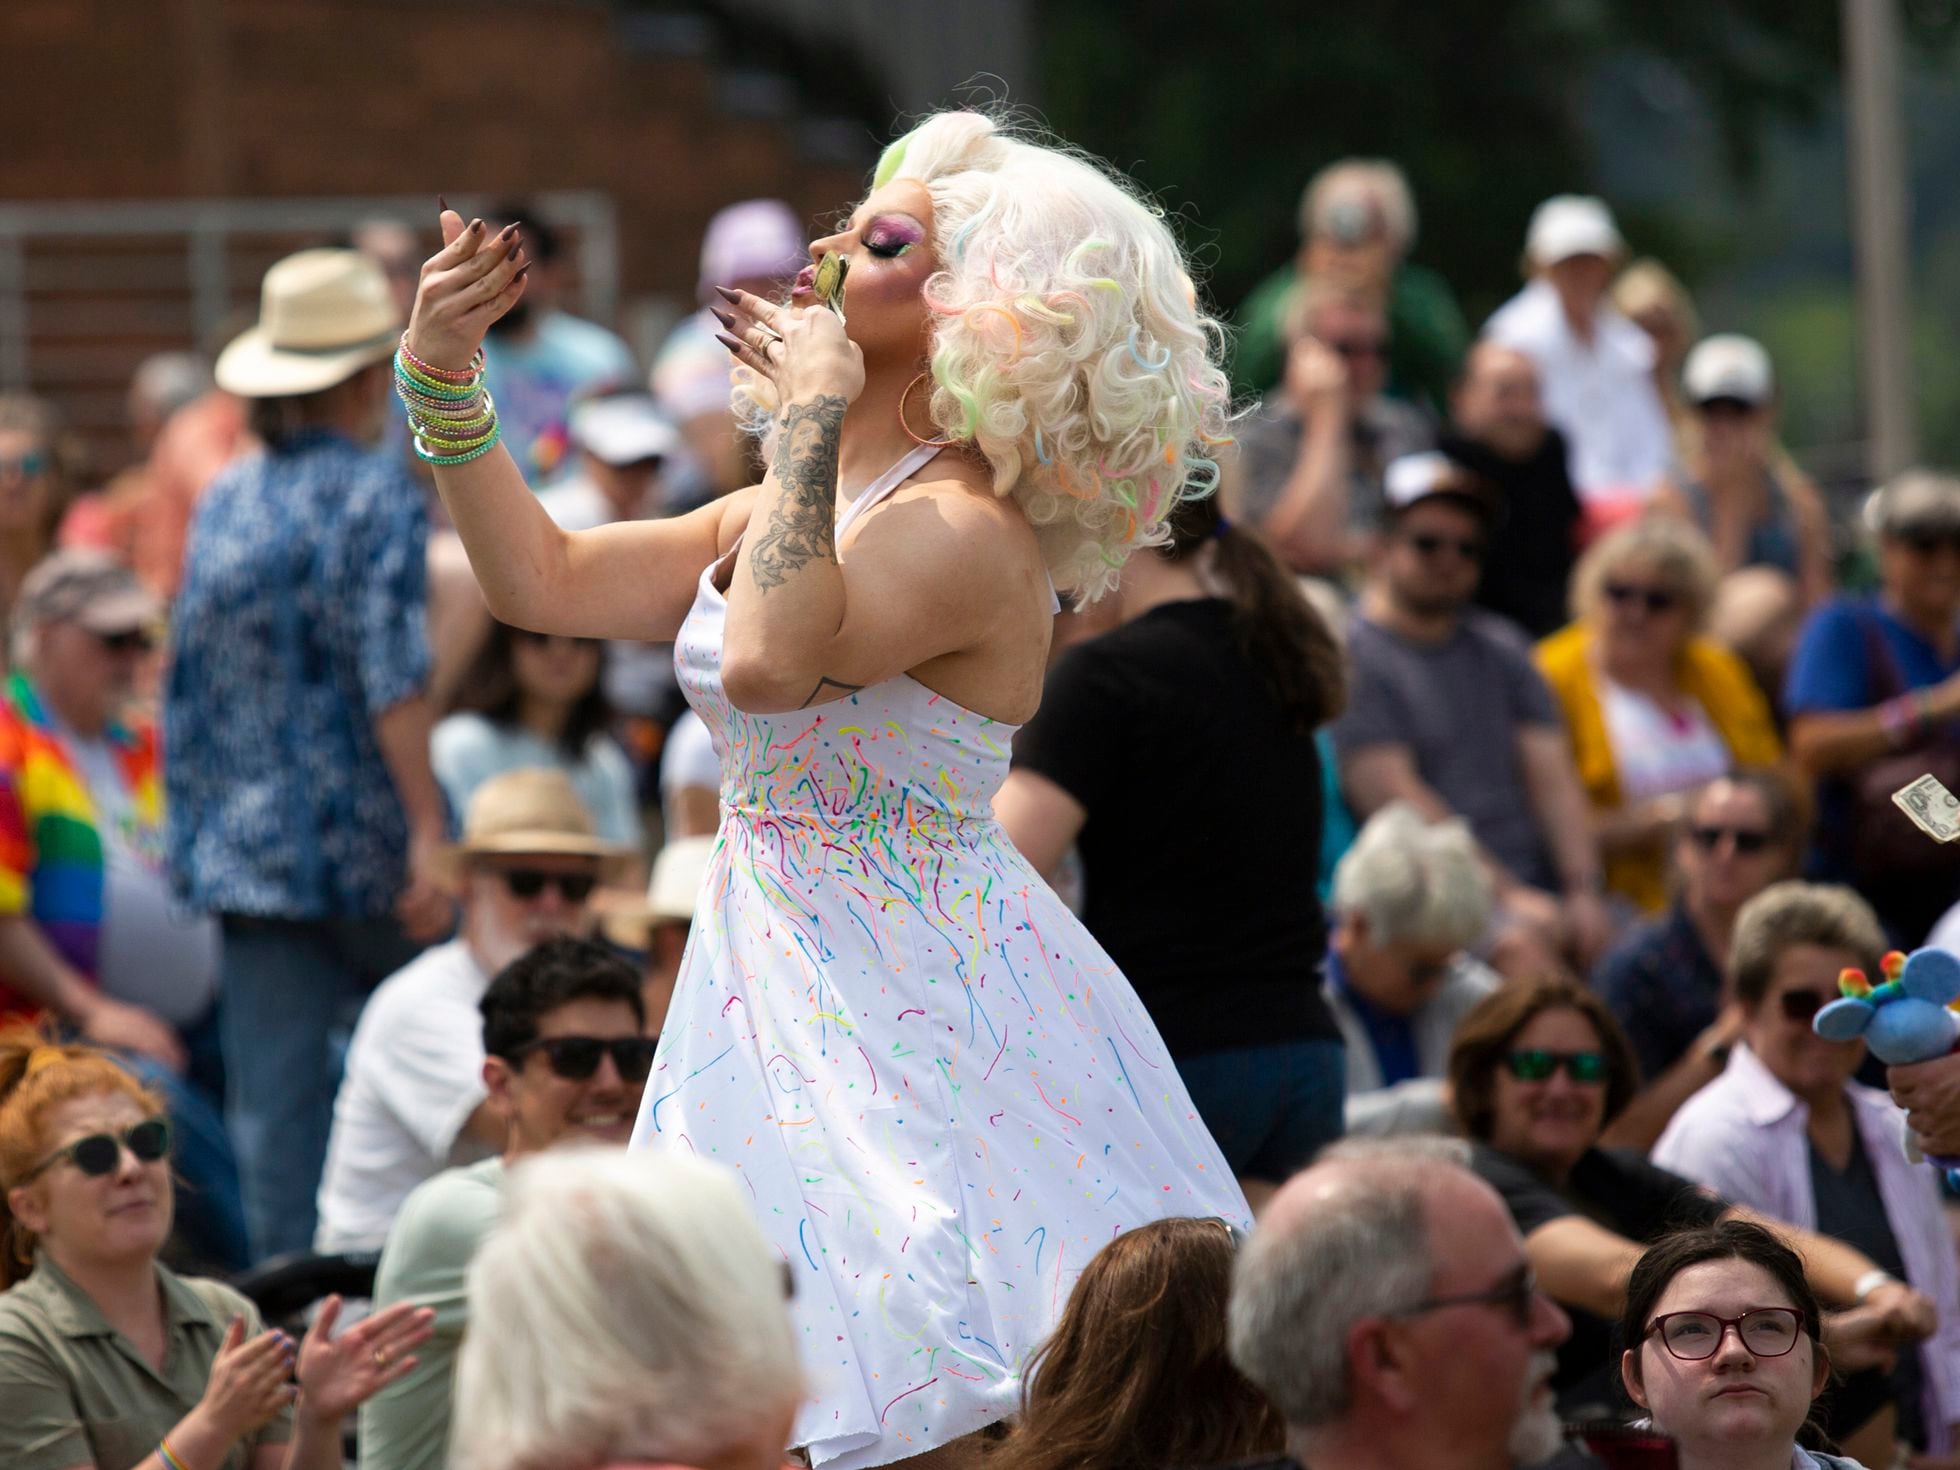
[{"label": "blue denim shorts of the ponytailed person in black t-shirt", "polygon": [[1178,1058],[1198,1115],[1241,1180],[1278,1184],[1341,1137],[1347,1047],[1280,1041]]}]

